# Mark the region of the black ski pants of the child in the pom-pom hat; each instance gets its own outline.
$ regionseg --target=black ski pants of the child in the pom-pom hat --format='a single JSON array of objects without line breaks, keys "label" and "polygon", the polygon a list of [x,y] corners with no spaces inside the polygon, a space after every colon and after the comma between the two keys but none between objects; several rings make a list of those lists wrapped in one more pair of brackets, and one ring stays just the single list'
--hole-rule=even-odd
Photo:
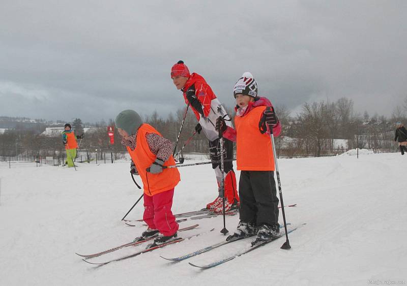
[{"label": "black ski pants of the child in the pom-pom hat", "polygon": [[241,171],[239,180],[240,220],[245,223],[278,225],[278,198],[273,171]]}]

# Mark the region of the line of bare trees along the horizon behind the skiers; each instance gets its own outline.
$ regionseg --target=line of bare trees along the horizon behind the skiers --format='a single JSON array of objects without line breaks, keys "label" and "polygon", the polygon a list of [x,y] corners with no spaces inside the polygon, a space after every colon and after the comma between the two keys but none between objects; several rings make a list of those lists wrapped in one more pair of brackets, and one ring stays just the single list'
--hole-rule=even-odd
[{"label": "line of bare trees along the horizon behind the skiers", "polygon": [[[276,149],[279,157],[304,157],[335,155],[349,149],[369,148],[376,152],[396,150],[394,140],[394,122],[407,122],[405,106],[397,106],[390,117],[368,112],[363,114],[354,111],[354,103],[347,98],[335,102],[305,103],[298,114],[292,115],[285,106],[275,106],[276,114],[282,124],[282,132],[276,138]],[[183,153],[208,153],[208,140],[204,134],[195,134],[197,120],[186,107],[178,109],[162,118],[157,111],[144,118],[165,138],[174,144],[177,141],[181,123],[185,116],[182,133],[178,141],[178,150],[188,141]],[[235,116],[232,108],[226,111]],[[83,133],[83,123],[76,118],[72,123],[75,134]],[[126,151],[120,142],[117,130],[114,130],[114,144],[109,143],[107,126],[114,126],[114,121],[98,122],[97,126],[87,131],[79,141],[82,160],[99,159],[104,153],[112,153],[114,159],[120,158]],[[45,126],[44,126],[45,129]],[[338,139],[341,139],[338,144]],[[359,145],[357,145],[359,144]],[[7,157],[45,157],[61,159],[65,155],[62,137],[50,137],[38,134],[34,130],[11,129],[0,134],[0,158]]]}]

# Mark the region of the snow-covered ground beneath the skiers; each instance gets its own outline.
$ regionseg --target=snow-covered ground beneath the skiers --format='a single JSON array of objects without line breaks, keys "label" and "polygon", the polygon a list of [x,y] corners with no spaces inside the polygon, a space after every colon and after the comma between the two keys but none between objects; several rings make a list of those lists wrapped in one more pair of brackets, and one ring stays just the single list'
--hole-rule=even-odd
[{"label": "snow-covered ground beneath the skiers", "polygon": [[[186,161],[189,163],[190,161]],[[359,154],[279,161],[287,221],[306,226],[209,270],[188,265],[226,257],[231,243],[180,263],[176,257],[224,239],[222,217],[183,235],[215,231],[101,267],[74,252],[92,253],[131,241],[143,229],[121,218],[141,195],[129,163],[73,168],[0,164],[0,285],[367,285],[407,283],[407,155]],[[173,212],[204,207],[217,194],[210,165],[179,169]],[[239,177],[237,172],[237,177]],[[141,202],[129,219],[142,216]],[[238,216],[226,217],[233,232]],[[280,224],[282,216],[280,212]],[[106,259],[142,249],[127,247]],[[95,260],[101,261],[103,256]],[[373,282],[372,282],[373,281]]]}]

